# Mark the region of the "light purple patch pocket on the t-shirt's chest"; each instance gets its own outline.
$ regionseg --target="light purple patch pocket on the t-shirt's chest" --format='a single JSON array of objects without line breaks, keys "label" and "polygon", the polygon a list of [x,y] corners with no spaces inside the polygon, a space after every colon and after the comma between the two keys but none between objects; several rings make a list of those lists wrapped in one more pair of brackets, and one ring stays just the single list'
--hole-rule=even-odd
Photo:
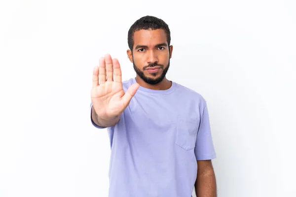
[{"label": "light purple patch pocket on the t-shirt's chest", "polygon": [[195,147],[199,119],[178,116],[175,144],[186,151]]}]

